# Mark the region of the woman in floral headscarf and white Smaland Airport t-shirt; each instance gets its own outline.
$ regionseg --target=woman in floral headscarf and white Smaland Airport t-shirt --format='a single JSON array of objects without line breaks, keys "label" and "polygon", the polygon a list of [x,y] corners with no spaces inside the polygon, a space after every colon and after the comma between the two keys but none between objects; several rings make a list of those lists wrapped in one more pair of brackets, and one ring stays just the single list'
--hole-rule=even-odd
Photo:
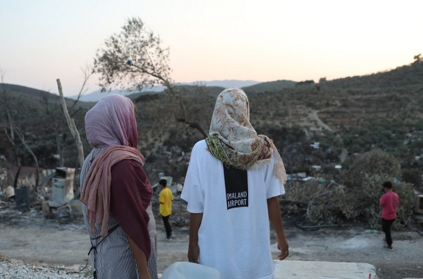
[{"label": "woman in floral headscarf and white Smaland Airport t-shirt", "polygon": [[268,219],[279,260],[289,254],[278,199],[286,181],[281,156],[251,126],[239,88],[217,97],[209,134],[192,150],[181,195],[191,213],[189,261],[216,268],[223,279],[270,279]]}]

